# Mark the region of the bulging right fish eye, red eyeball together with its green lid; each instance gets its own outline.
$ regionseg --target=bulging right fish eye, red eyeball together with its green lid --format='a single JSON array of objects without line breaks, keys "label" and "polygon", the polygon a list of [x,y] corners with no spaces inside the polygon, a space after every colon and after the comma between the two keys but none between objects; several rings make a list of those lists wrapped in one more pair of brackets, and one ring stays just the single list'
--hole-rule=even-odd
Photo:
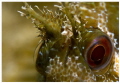
[{"label": "bulging right fish eye, red eyeball together with its green lid", "polygon": [[83,56],[92,70],[102,70],[111,62],[113,44],[110,38],[100,30],[89,32],[84,36],[86,39],[83,42]]}]

